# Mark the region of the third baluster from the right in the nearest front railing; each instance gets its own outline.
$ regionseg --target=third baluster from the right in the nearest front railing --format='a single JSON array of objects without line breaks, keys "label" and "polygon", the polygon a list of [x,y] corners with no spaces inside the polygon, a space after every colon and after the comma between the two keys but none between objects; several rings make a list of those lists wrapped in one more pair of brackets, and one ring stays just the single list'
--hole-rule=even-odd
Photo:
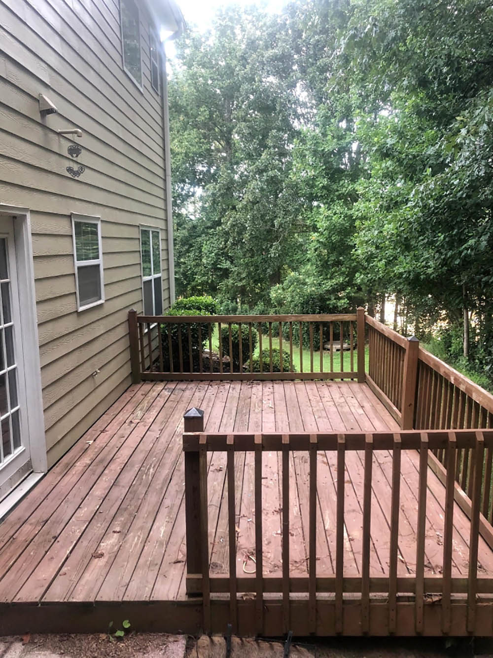
[{"label": "third baluster from the right in the nearest front railing", "polygon": [[417,536],[416,536],[416,597],[415,628],[416,633],[423,633],[423,611],[425,604],[425,538],[426,538],[426,498],[428,488],[428,448],[427,432],[421,432],[419,449],[419,485],[417,499]]}]

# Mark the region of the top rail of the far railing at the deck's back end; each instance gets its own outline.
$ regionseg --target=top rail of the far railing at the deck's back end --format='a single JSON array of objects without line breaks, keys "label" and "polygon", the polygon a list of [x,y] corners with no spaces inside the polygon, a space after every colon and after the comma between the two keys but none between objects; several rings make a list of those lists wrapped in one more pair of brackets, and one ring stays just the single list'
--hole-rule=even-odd
[{"label": "top rail of the far railing at the deck's back end", "polygon": [[189,324],[194,322],[356,322],[356,313],[324,315],[137,315],[143,324]]}]

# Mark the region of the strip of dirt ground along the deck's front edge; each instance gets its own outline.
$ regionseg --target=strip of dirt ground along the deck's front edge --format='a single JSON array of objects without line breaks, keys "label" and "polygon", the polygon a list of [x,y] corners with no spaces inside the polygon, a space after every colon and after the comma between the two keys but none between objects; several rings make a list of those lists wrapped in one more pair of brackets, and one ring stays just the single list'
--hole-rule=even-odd
[{"label": "strip of dirt ground along the deck's front edge", "polygon": [[[448,644],[448,646],[446,645]],[[279,640],[231,638],[231,658],[283,657]],[[0,658],[227,658],[224,638],[199,640],[129,632],[113,642],[107,634],[26,635],[0,638]],[[493,656],[492,640],[433,638],[296,638],[291,658],[474,658]]]}]

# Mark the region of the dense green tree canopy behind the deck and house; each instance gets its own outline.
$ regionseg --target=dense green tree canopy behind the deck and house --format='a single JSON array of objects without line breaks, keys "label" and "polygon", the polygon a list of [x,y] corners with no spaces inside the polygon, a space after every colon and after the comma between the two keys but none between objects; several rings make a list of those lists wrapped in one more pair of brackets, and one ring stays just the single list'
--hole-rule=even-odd
[{"label": "dense green tree canopy behind the deck and house", "polygon": [[[337,312],[384,295],[493,376],[493,3],[229,7],[177,46],[177,291]],[[437,324],[438,322],[438,324]]]}]

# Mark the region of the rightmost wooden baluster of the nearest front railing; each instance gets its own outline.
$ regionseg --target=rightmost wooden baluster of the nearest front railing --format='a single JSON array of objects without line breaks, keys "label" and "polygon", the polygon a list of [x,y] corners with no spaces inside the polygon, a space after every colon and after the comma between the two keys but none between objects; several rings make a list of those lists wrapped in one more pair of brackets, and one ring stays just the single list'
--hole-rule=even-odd
[{"label": "rightmost wooden baluster of the nearest front railing", "polygon": [[484,461],[484,436],[476,433],[473,449],[473,488],[471,492],[471,534],[469,535],[469,574],[467,576],[467,632],[476,626],[476,595],[478,577],[479,512],[481,509],[482,465]]}]

